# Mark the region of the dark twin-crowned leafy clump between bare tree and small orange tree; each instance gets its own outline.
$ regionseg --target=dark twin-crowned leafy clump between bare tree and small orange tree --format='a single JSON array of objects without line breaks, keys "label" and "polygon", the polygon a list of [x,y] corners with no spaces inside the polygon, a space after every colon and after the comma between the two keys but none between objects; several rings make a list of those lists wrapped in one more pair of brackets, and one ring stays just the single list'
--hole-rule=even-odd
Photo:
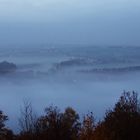
[{"label": "dark twin-crowned leafy clump between bare tree and small orange tree", "polygon": [[61,113],[57,107],[45,109],[45,116],[38,119],[37,130],[42,140],[76,140],[80,129],[79,115],[66,108]]}]

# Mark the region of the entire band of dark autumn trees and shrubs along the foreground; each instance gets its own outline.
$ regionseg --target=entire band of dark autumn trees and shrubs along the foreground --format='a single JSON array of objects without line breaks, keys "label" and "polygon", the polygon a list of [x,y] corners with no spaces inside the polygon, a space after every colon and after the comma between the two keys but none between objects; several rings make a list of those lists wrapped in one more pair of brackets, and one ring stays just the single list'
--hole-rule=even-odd
[{"label": "entire band of dark autumn trees and shrubs along the foreground", "polygon": [[99,122],[92,112],[80,119],[70,107],[61,112],[50,106],[43,116],[36,117],[29,102],[21,110],[19,134],[5,126],[7,120],[0,112],[0,140],[140,140],[140,108],[135,92],[124,92]]}]

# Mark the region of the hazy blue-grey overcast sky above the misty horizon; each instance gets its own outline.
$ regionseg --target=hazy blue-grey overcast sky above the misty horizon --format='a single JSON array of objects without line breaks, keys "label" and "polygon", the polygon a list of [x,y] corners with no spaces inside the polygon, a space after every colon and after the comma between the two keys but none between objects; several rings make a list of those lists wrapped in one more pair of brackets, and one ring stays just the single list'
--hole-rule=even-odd
[{"label": "hazy blue-grey overcast sky above the misty horizon", "polygon": [[140,46],[139,0],[0,0],[0,45]]}]

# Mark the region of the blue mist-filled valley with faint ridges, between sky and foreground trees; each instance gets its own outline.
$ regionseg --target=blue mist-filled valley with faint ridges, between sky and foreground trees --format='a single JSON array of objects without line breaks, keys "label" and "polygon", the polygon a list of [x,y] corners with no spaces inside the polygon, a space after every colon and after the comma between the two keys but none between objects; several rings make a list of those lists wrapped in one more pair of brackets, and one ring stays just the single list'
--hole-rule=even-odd
[{"label": "blue mist-filled valley with faint ridges, between sky and foreground trees", "polygon": [[23,100],[37,114],[46,106],[71,106],[101,119],[123,90],[140,93],[140,48],[44,46],[0,49],[0,60],[17,66],[0,75],[0,107],[17,126]]}]

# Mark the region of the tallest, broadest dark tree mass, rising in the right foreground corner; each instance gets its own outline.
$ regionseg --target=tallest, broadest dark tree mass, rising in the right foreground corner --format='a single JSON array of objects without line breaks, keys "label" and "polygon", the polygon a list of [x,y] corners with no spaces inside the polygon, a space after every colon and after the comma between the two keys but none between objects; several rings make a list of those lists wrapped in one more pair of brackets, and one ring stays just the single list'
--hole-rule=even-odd
[{"label": "tallest, broadest dark tree mass, rising in the right foreground corner", "polygon": [[96,128],[96,140],[139,140],[140,112],[135,92],[124,92]]}]

